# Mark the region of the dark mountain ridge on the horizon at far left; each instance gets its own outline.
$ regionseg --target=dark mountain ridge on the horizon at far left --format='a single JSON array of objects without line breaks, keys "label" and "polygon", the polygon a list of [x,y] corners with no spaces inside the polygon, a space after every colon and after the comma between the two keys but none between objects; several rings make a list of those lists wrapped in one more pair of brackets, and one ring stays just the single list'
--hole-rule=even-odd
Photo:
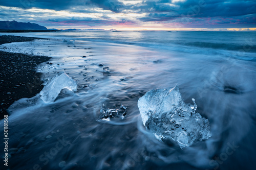
[{"label": "dark mountain ridge on the horizon at far left", "polygon": [[39,26],[36,23],[0,21],[0,30],[47,30],[44,26]]}]

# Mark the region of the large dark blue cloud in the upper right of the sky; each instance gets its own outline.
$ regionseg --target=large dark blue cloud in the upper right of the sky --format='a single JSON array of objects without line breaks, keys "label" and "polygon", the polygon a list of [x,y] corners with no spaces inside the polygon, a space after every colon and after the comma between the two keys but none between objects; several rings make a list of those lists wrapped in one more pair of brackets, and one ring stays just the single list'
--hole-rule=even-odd
[{"label": "large dark blue cloud in the upper right of the sky", "polygon": [[[140,6],[133,7],[138,12],[148,12],[142,21],[172,20],[178,17],[230,17],[254,14],[256,1],[185,1],[171,3],[172,1],[144,1]],[[173,4],[175,6],[168,6]]]}]

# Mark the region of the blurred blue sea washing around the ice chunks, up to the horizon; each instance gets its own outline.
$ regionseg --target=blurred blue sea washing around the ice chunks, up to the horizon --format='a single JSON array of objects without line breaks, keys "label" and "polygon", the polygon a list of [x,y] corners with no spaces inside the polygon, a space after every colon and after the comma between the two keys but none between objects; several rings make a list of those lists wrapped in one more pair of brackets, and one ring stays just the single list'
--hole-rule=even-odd
[{"label": "blurred blue sea washing around the ice chunks, up to the horizon", "polygon": [[[1,34],[49,38],[0,45],[1,51],[51,57],[35,68],[42,72],[35,85],[46,85],[63,71],[77,84],[77,91],[62,90],[54,102],[37,94],[10,106],[9,169],[256,167],[256,32]],[[27,92],[33,91],[32,82],[25,83]],[[176,85],[184,102],[195,99],[211,132],[183,150],[156,139],[137,106],[147,91]],[[102,120],[103,104],[127,107],[125,117]]]}]

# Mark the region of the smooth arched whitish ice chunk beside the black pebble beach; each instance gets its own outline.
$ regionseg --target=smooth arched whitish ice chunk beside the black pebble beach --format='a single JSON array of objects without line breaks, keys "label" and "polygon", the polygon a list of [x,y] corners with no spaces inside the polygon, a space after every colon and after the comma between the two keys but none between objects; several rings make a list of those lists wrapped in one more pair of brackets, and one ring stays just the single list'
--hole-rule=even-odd
[{"label": "smooth arched whitish ice chunk beside the black pebble beach", "polygon": [[40,91],[41,99],[45,102],[53,102],[62,89],[76,91],[76,87],[76,82],[63,71],[52,78]]}]

